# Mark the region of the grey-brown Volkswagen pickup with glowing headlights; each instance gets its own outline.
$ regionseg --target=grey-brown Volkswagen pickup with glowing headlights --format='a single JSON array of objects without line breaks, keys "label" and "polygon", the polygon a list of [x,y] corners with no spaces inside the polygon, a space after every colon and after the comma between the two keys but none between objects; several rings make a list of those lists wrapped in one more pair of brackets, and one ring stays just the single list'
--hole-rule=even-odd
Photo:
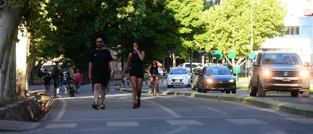
[{"label": "grey-brown Volkswagen pickup with glowing headlights", "polygon": [[297,97],[310,95],[308,62],[302,61],[294,52],[260,52],[249,71],[250,96],[264,97],[268,91],[290,92]]}]

